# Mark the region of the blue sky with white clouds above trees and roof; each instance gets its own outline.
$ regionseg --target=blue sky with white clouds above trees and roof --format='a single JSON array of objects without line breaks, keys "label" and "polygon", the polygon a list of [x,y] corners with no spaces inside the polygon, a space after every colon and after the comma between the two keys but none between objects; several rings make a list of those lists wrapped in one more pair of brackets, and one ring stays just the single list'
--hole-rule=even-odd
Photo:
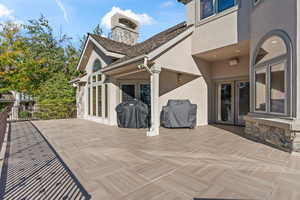
[{"label": "blue sky with white clouds above trees and roof", "polygon": [[0,0],[0,22],[26,23],[43,14],[54,28],[73,38],[74,45],[100,24],[110,31],[110,17],[121,12],[141,24],[139,41],[185,20],[185,7],[177,0]]}]

